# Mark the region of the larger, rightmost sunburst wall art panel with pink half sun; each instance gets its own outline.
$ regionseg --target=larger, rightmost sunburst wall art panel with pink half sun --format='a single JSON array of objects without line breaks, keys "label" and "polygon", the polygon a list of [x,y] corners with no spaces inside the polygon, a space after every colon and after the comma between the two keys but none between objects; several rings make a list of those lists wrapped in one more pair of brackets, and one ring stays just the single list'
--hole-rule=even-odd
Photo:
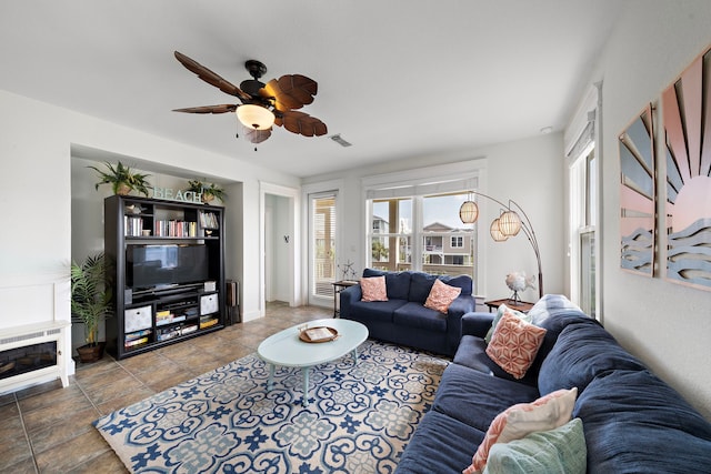
[{"label": "larger, rightmost sunburst wall art panel with pink half sun", "polygon": [[711,50],[662,92],[667,279],[711,290]]}]

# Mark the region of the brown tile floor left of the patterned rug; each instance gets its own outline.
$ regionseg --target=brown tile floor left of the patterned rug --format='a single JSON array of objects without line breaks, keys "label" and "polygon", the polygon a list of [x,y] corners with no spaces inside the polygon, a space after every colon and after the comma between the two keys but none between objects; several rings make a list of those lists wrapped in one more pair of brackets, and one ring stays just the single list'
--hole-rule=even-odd
[{"label": "brown tile floor left of the patterned rug", "polygon": [[316,306],[267,305],[267,316],[122,361],[77,362],[69,386],[48,382],[0,395],[0,473],[126,473],[91,422],[257,350],[294,324],[332,317]]}]

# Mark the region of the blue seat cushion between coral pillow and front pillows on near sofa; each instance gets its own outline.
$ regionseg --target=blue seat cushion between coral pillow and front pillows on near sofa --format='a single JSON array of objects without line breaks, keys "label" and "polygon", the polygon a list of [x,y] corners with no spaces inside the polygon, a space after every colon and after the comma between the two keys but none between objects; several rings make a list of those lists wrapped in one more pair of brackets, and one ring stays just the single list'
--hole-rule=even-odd
[{"label": "blue seat cushion between coral pillow and front pillows on near sofa", "polygon": [[[485,432],[499,413],[517,403],[532,402],[539,396],[534,386],[450,364],[442,374],[432,410]],[[469,454],[471,461],[472,453]]]}]

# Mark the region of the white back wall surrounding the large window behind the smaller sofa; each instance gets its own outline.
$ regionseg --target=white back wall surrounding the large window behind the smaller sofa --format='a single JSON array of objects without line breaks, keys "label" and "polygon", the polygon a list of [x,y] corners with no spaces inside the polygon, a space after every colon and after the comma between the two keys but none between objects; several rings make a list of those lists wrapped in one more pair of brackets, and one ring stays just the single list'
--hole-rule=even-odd
[{"label": "white back wall surrounding the large window behind the smaller sofa", "polygon": [[[499,201],[512,199],[531,219],[541,248],[544,290],[547,293],[565,293],[564,225],[563,225],[563,150],[562,135],[552,133],[532,139],[502,143],[458,154],[439,157],[417,157],[408,160],[382,163],[377,167],[350,170],[346,175],[324,174],[304,180],[304,184],[318,188],[319,182],[334,178],[343,179],[339,200],[343,212],[339,219],[341,249],[337,259],[348,260],[358,273],[362,273],[365,262],[365,208],[361,190],[361,179],[377,174],[433,167],[437,164],[471,161],[485,158],[485,175],[480,178],[482,190]],[[482,202],[485,212],[493,219],[498,206]],[[489,219],[481,220],[480,249],[485,258],[483,281],[475,281],[475,293],[487,299],[505,297],[510,290],[504,279],[511,271],[523,270],[529,275],[538,273],[535,254],[528,240],[520,235],[507,242],[497,243],[489,235]],[[538,300],[538,291],[527,290],[527,301]]]}]

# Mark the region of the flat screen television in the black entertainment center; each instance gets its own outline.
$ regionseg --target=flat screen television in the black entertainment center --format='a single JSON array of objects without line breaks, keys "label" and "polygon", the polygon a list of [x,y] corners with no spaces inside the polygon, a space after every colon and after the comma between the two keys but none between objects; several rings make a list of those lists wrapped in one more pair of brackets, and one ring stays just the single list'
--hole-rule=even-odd
[{"label": "flat screen television in the black entertainment center", "polygon": [[129,245],[126,250],[126,285],[134,291],[202,283],[208,274],[206,245]]}]

